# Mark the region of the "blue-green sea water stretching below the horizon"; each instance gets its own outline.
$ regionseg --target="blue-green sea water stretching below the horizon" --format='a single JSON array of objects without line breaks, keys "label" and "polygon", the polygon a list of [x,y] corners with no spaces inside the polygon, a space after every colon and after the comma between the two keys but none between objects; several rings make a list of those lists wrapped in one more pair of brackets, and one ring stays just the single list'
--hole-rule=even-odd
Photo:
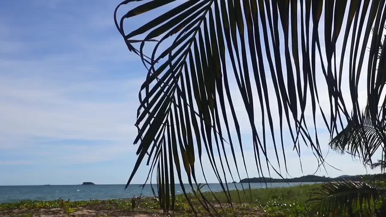
[{"label": "blue-green sea water stretching below the horizon", "polygon": [[[301,185],[302,183],[251,183],[251,188],[272,188],[288,187]],[[310,184],[310,183],[306,183]],[[248,184],[244,183],[244,188]],[[241,183],[236,183],[237,188],[241,189]],[[189,184],[184,184],[186,192],[191,192]],[[221,185],[218,183],[209,184],[213,192],[221,191]],[[234,184],[228,184],[230,190],[236,189]],[[19,200],[56,200],[63,198],[65,200],[107,200],[115,198],[130,198],[142,196],[153,196],[151,186],[142,186],[133,184],[125,190],[125,185],[28,185],[28,186],[0,186],[0,203],[17,202]],[[156,185],[153,184],[154,191],[157,193]],[[175,186],[176,194],[183,193],[181,185]],[[209,190],[208,186],[203,188]]]}]

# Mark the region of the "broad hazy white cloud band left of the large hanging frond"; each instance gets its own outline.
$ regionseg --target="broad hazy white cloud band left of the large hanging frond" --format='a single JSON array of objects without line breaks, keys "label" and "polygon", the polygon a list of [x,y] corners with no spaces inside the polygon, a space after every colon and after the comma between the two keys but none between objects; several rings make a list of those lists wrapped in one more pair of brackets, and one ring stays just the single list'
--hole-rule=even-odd
[{"label": "broad hazy white cloud band left of the large hanging frond", "polygon": [[[135,110],[132,105],[137,105],[134,96],[139,81],[98,81],[68,87],[52,82],[0,81],[2,135],[116,141],[129,140],[135,135],[135,113],[130,111]],[[18,85],[22,83],[24,85]],[[44,83],[57,87],[47,88]],[[98,98],[101,90],[112,97],[120,93],[126,100],[112,102],[108,94]],[[93,100],[76,99],[77,95],[87,92],[96,92],[91,96]]]}]

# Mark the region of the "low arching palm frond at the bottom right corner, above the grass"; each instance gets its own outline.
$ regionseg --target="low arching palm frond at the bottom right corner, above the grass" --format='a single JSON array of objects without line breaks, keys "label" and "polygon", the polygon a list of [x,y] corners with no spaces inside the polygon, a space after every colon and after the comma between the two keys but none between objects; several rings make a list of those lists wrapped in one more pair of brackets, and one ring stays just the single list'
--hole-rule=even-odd
[{"label": "low arching palm frond at the bottom right corner, above the grass", "polygon": [[338,181],[323,183],[311,193],[308,208],[311,214],[330,216],[347,212],[374,212],[375,205],[385,200],[386,190],[365,182]]}]

